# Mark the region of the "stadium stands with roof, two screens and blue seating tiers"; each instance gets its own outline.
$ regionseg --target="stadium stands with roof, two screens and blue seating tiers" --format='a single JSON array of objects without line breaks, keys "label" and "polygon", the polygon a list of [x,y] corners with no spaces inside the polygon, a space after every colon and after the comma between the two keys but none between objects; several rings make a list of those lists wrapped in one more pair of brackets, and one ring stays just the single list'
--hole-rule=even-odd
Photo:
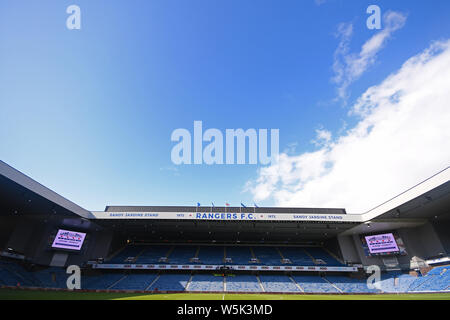
[{"label": "stadium stands with roof, two screens and blue seating tiers", "polygon": [[384,292],[450,289],[450,167],[360,214],[213,206],[89,211],[1,161],[0,197],[0,285],[64,288],[64,267],[78,265],[87,289],[379,292],[365,286],[365,269],[376,265]]}]

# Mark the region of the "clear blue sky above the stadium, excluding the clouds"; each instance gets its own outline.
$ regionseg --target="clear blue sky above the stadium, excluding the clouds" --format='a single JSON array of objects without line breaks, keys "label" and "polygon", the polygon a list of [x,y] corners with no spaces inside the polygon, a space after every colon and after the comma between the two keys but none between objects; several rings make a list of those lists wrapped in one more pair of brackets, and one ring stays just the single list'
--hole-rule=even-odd
[{"label": "clear blue sky above the stadium, excluding the clouds", "polygon": [[[66,28],[71,4],[81,30]],[[405,22],[341,99],[339,26],[360,52],[380,32],[366,27],[370,4]],[[0,159],[90,210],[282,205],[246,188],[258,165],[175,166],[172,131],[278,128],[280,151],[314,152],[317,130],[356,126],[358,97],[448,38],[448,1],[0,0]]]}]

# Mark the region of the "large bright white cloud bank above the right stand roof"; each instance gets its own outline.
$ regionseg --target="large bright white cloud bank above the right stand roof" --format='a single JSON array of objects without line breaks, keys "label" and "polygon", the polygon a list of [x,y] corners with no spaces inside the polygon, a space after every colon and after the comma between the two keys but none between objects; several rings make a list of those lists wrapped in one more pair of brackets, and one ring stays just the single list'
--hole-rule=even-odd
[{"label": "large bright white cloud bank above the right stand roof", "polygon": [[369,88],[351,108],[355,127],[317,151],[280,154],[246,190],[279,206],[375,207],[450,165],[449,88],[450,40]]}]

